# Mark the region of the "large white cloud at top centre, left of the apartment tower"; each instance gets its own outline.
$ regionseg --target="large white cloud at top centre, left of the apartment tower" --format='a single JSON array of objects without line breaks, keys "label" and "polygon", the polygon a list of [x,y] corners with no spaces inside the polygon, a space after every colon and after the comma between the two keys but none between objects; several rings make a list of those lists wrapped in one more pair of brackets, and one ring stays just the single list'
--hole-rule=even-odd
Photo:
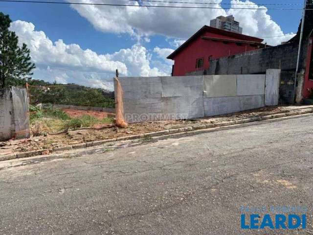
[{"label": "large white cloud at top centre, left of the apartment tower", "polygon": [[[80,0],[93,2],[92,0]],[[187,38],[204,24],[225,11],[219,3],[222,0],[211,0],[218,3],[212,5],[219,9],[184,9],[160,7],[121,7],[121,6],[95,6],[71,5],[72,8],[89,20],[93,26],[102,32],[129,33],[134,36],[160,34],[168,37]],[[198,0],[207,2],[207,0]],[[125,4],[124,0],[107,0],[106,3]],[[138,5],[138,2],[127,2]],[[145,5],[177,5],[182,3],[143,2]]]}]

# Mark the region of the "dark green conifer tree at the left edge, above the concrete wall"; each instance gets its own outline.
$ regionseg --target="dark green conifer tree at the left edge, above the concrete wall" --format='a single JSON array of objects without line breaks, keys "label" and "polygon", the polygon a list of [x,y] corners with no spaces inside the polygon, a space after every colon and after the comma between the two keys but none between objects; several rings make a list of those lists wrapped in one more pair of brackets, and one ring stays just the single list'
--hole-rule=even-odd
[{"label": "dark green conifer tree at the left edge, above the concrete wall", "polygon": [[10,17],[0,12],[0,87],[22,85],[35,69],[26,44],[19,47],[18,36],[9,30]]}]

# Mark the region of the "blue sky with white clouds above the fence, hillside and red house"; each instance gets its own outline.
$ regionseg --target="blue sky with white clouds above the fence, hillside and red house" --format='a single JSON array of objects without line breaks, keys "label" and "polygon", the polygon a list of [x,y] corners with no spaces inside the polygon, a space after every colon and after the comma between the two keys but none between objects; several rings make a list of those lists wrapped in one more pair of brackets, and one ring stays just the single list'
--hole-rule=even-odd
[{"label": "blue sky with white clouds above the fence, hillside and red house", "polygon": [[[126,0],[119,1],[128,2]],[[221,0],[212,1],[220,2]],[[237,1],[240,2],[239,0]],[[115,0],[115,2],[117,2],[117,0]],[[261,6],[259,3],[301,3],[302,1],[251,0],[251,2]],[[222,3],[230,3],[230,0],[223,0]],[[301,6],[277,5],[268,6],[268,8],[269,7],[300,8]],[[34,54],[39,53],[34,56],[34,60],[36,60],[39,64],[39,70],[35,72],[35,78],[45,76],[42,78],[51,81],[53,79],[56,80],[53,76],[57,76],[60,82],[75,82],[75,79],[71,76],[75,74],[75,71],[81,71],[78,76],[80,78],[76,81],[77,83],[112,89],[112,84],[109,84],[108,81],[111,81],[112,71],[115,69],[113,68],[110,70],[107,67],[111,65],[118,66],[118,63],[110,65],[106,63],[111,63],[112,61],[124,63],[126,69],[123,66],[122,67],[125,70],[125,75],[168,74],[170,72],[171,62],[164,59],[166,53],[170,53],[172,49],[179,46],[179,44],[183,42],[183,40],[187,39],[189,35],[197,31],[201,25],[209,24],[209,20],[211,18],[215,18],[216,14],[219,15],[219,13],[223,13],[224,10],[190,10],[189,12],[191,13],[186,16],[181,16],[181,12],[177,9],[166,9],[167,13],[165,11],[161,12],[154,9],[151,9],[150,12],[144,10],[140,12],[132,12],[132,10],[129,10],[127,11],[129,16],[124,18],[125,13],[122,14],[119,8],[112,9],[110,6],[101,6],[98,9],[91,9],[84,6],[73,8],[70,5],[65,4],[0,2],[0,11],[5,14],[9,14],[13,22],[25,22],[25,24],[22,24],[21,22],[20,24],[16,24],[14,28],[23,42],[27,43],[27,45],[32,43],[35,44],[35,40],[32,38],[35,37],[35,31],[43,31],[45,37],[43,35],[41,35],[41,37],[44,37],[45,40],[50,40],[54,43],[61,39],[64,45],[79,45],[82,51],[90,49],[97,55],[96,58],[100,60],[99,67],[96,68],[97,74],[94,73],[92,75],[88,75],[87,72],[91,72],[92,68],[86,71],[86,65],[82,65],[82,63],[78,63],[73,69],[71,66],[68,66],[67,63],[63,66],[62,63],[56,63],[52,60],[52,62],[49,62],[50,58],[46,59],[42,51],[39,51],[41,48],[37,47],[38,43],[36,44],[37,46],[33,45],[33,47],[28,45],[32,52],[36,50],[33,52]],[[169,13],[173,13],[173,17],[169,16]],[[201,17],[201,15],[205,17]],[[268,10],[267,13],[263,15],[255,13],[250,16],[242,12],[236,12],[234,15],[235,19],[239,20],[244,27],[244,33],[253,36],[273,36],[277,34],[281,35],[296,32],[301,18],[301,11]],[[116,18],[112,16],[115,16]],[[121,18],[119,16],[121,16]],[[111,19],[111,17],[113,19]],[[136,17],[138,19],[136,19]],[[243,21],[245,21],[246,27],[243,25]],[[259,25],[258,27],[253,26],[256,22]],[[23,28],[26,28],[26,23],[31,23],[35,26],[34,30],[29,29],[31,31],[31,34],[29,35],[25,35],[25,30],[23,30]],[[268,26],[264,26],[263,24]],[[36,36],[36,40],[38,40],[38,35]],[[278,44],[280,41],[277,40],[283,40],[283,38],[270,40],[270,44]],[[42,42],[42,40],[40,42]],[[126,49],[127,51],[121,51],[121,49]],[[83,53],[82,51],[79,53]],[[60,56],[61,52],[55,53],[55,55],[51,56],[56,56],[57,54]],[[72,55],[71,53],[73,52],[70,51],[67,53]],[[106,58],[101,57],[100,55],[106,55]],[[144,66],[142,66],[141,69],[136,68],[136,66],[138,67],[138,63],[140,63],[140,61],[133,63],[134,59],[130,59],[130,55],[134,58],[138,58],[138,56],[145,57],[145,60],[141,61]],[[48,57],[48,55],[45,56]],[[141,57],[139,58],[140,60],[142,59]],[[105,63],[105,66],[103,66],[103,63],[101,62],[103,59],[105,60],[103,62]],[[45,62],[45,60],[48,62]],[[57,60],[60,59],[55,59],[55,61]],[[126,60],[128,61],[125,62]],[[80,69],[79,66],[84,68]],[[121,69],[122,71],[123,68]],[[95,80],[96,82],[94,82]]]}]

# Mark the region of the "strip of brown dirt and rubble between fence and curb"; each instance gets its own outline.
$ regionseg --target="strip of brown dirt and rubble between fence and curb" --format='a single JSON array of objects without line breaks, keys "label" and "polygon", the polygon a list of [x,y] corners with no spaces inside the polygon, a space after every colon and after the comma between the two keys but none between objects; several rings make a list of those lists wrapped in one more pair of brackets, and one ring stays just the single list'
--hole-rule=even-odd
[{"label": "strip of brown dirt and rubble between fence and curb", "polygon": [[[117,128],[115,126],[112,126],[111,128],[105,128],[100,130],[91,128],[68,131],[67,133],[59,135],[49,135],[45,133],[45,135],[42,136],[31,136],[29,139],[9,140],[0,142],[0,156],[11,154],[14,152],[25,152],[39,149],[46,149],[48,152],[49,149],[53,147],[61,147],[70,144],[106,140],[111,138],[123,137],[127,135],[137,135],[148,132],[155,132],[164,129],[174,129],[186,126],[188,124],[208,123],[208,122],[218,123],[226,120],[238,120],[243,118],[253,118],[277,113],[286,113],[305,108],[313,108],[313,106],[272,106],[216,117],[195,118],[190,120],[169,120],[169,121],[134,123],[129,124],[127,128]],[[84,112],[74,111],[70,115],[82,115],[84,113],[87,114],[88,112],[89,111]],[[90,115],[90,113],[88,114]]]}]

